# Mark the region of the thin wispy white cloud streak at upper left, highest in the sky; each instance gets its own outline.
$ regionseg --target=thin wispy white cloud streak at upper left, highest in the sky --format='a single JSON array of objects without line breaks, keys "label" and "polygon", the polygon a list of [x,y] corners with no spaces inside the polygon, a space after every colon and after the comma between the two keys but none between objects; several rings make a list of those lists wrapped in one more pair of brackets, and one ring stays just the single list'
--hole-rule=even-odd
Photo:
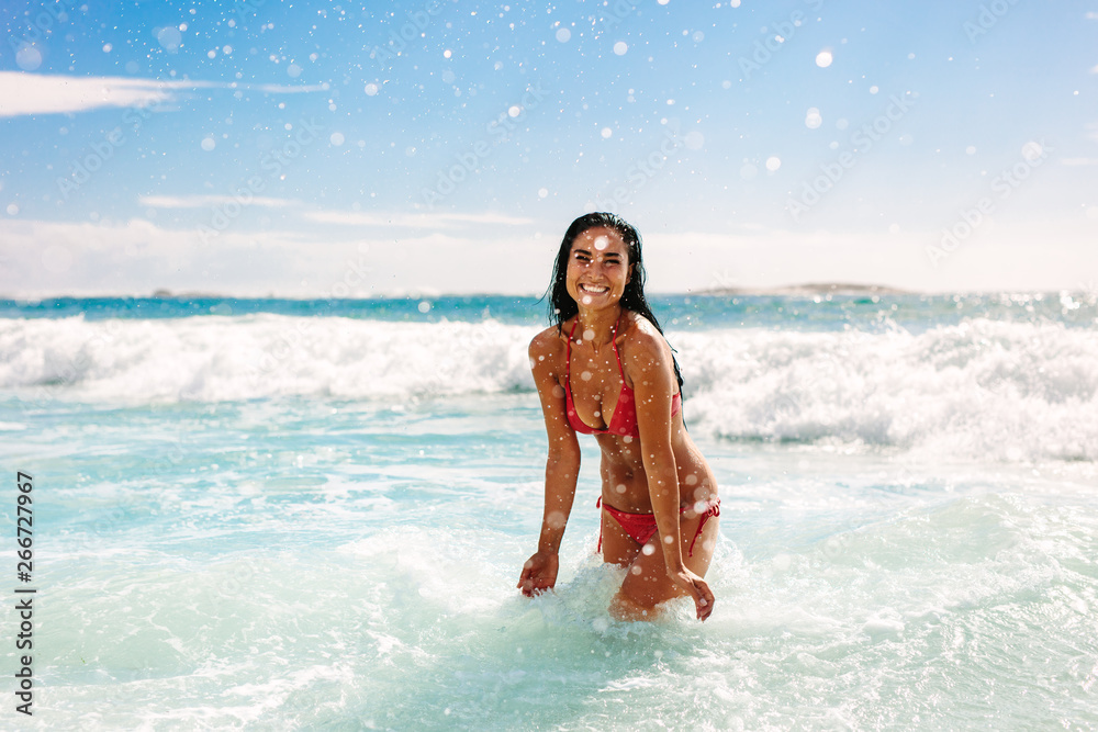
[{"label": "thin wispy white cloud streak at upper left, highest in the sky", "polygon": [[327,85],[283,87],[211,81],[77,77],[0,71],[0,117],[70,114],[101,108],[149,106],[189,89],[258,89],[265,93],[323,91]]}]

